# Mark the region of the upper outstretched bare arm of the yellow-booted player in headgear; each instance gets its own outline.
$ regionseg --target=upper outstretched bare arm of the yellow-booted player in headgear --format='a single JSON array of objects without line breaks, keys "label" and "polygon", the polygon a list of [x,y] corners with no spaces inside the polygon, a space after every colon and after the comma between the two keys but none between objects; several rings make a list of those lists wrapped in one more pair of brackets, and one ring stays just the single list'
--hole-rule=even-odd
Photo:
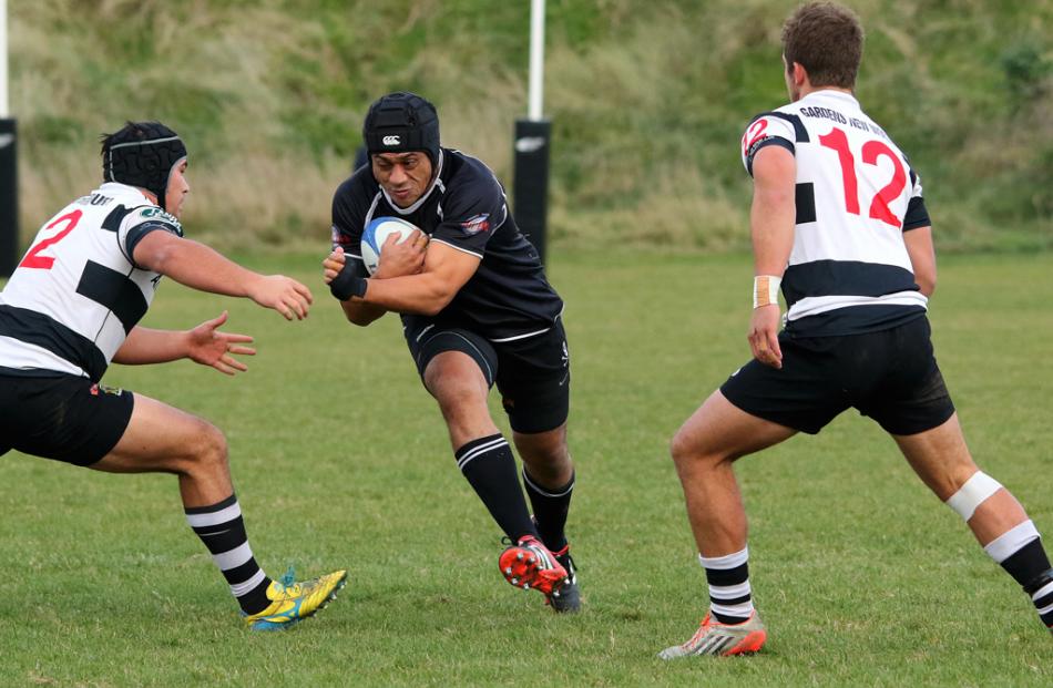
[{"label": "upper outstretched bare arm of the yellow-booted player in headgear", "polygon": [[151,232],[135,245],[135,264],[175,281],[213,294],[248,297],[265,308],[303,320],[310,309],[310,289],[284,275],[260,275],[243,268],[204,244],[167,232]]}]

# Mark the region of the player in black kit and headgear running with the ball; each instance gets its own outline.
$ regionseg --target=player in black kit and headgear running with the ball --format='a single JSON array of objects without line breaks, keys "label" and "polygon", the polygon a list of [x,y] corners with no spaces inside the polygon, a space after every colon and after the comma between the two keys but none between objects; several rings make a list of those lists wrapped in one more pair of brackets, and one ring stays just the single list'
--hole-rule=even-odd
[{"label": "player in black kit and headgear running with the ball", "polygon": [[[326,283],[355,325],[389,310],[401,314],[457,465],[512,543],[499,558],[501,573],[512,585],[540,591],[556,612],[576,612],[581,602],[564,534],[574,466],[566,448],[563,301],[490,168],[439,145],[431,103],[412,93],[385,95],[370,106],[362,137],[370,164],[333,198]],[[398,244],[390,237],[370,276],[359,249],[362,232],[387,216],[420,232]],[[487,407],[493,384],[523,461],[532,516],[512,449]]]}]

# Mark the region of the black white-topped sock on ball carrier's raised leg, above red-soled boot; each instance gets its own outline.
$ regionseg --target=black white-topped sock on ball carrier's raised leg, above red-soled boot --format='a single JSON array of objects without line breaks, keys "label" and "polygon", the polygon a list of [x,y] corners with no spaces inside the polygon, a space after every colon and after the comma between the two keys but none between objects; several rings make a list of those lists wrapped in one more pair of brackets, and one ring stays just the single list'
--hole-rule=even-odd
[{"label": "black white-topped sock on ball carrier's raised leg, above red-soled boot", "polygon": [[500,434],[479,438],[458,449],[453,456],[457,468],[512,542],[519,542],[524,535],[538,536],[519,486],[515,458],[508,440]]}]

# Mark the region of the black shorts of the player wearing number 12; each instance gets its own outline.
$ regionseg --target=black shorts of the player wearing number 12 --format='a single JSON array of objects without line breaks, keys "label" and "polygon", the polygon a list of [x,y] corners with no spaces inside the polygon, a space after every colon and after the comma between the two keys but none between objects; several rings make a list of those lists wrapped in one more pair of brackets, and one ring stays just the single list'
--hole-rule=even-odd
[{"label": "black shorts of the player wearing number 12", "polygon": [[783,368],[752,360],[720,387],[758,418],[816,434],[855,407],[892,434],[917,434],[954,413],[932,355],[924,316],[888,330],[845,337],[779,335]]}]

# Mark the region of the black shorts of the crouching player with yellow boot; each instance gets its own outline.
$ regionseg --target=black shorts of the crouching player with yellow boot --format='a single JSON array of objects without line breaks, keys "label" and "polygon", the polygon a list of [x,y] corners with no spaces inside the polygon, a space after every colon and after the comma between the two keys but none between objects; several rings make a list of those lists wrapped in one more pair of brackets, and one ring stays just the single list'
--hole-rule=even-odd
[{"label": "black shorts of the crouching player with yellow boot", "polygon": [[0,449],[90,465],[116,445],[134,403],[88,378],[0,376]]}]

